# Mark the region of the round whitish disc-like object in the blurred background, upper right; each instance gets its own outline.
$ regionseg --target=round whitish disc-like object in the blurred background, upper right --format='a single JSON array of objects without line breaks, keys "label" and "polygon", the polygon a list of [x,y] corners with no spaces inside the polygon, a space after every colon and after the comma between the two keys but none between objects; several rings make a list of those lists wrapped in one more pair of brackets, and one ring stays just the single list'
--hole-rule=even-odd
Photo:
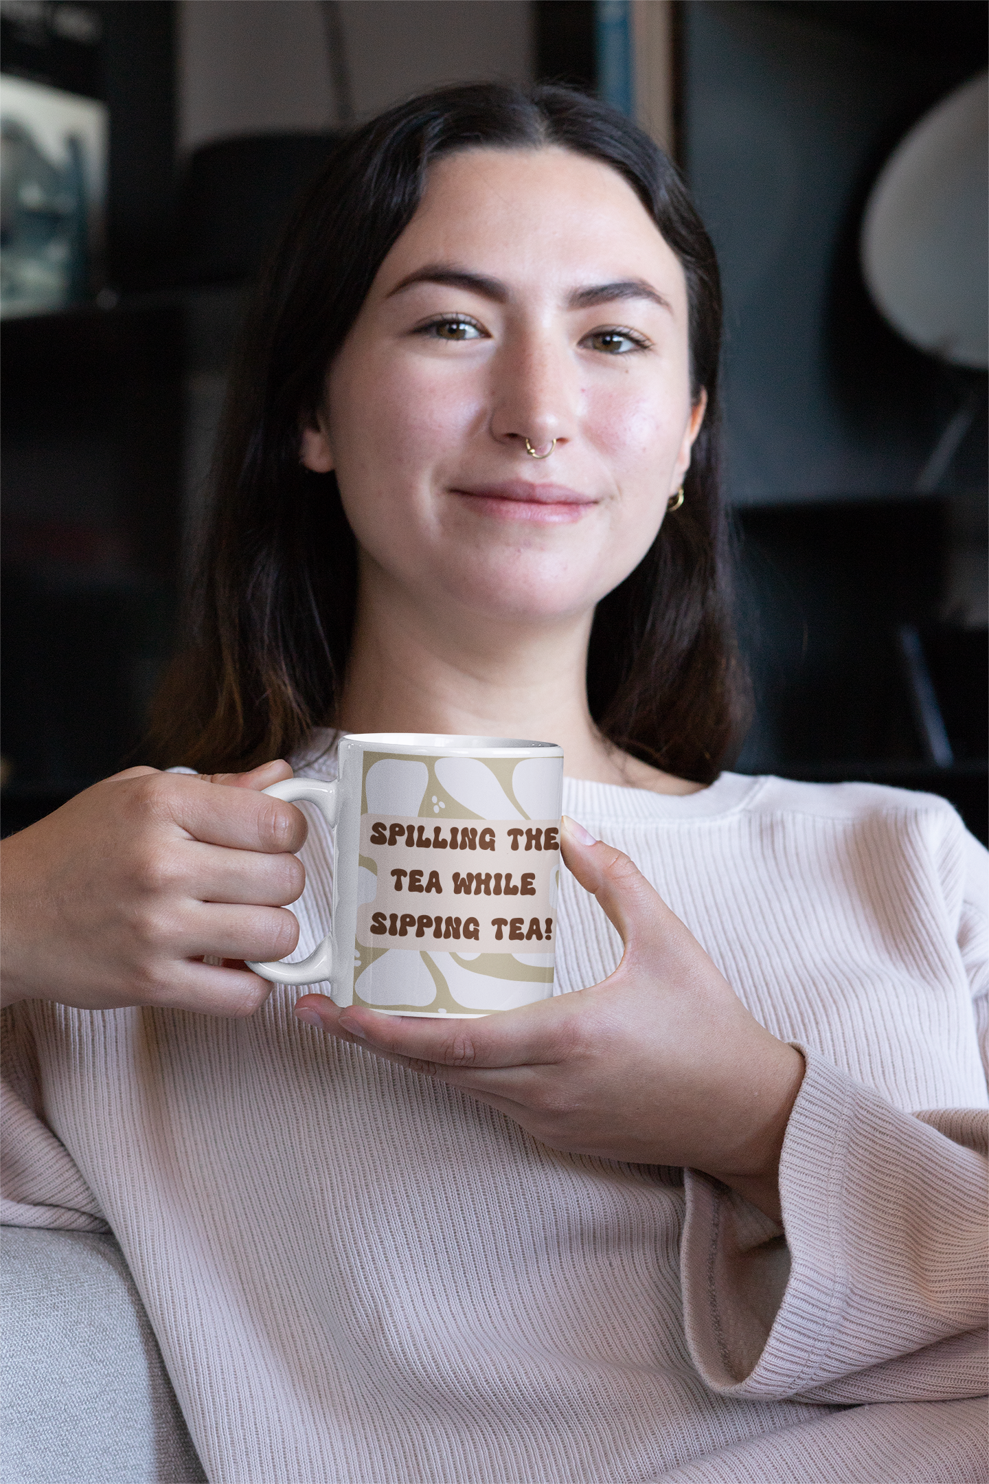
[{"label": "round whitish disc-like object in the blurred background, upper right", "polygon": [[989,71],[893,151],[866,205],[861,266],[881,313],[910,344],[989,370]]}]

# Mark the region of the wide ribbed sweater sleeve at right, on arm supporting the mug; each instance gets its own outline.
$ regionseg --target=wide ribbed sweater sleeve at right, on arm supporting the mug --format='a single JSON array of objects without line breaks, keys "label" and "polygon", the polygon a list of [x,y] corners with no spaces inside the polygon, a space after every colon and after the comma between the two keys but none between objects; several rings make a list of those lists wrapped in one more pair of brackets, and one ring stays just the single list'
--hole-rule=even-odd
[{"label": "wide ribbed sweater sleeve at right, on arm supporting the mug", "polygon": [[805,1055],[780,1165],[784,1226],[687,1175],[697,1368],[753,1399],[989,1393],[989,1113],[903,1113]]}]

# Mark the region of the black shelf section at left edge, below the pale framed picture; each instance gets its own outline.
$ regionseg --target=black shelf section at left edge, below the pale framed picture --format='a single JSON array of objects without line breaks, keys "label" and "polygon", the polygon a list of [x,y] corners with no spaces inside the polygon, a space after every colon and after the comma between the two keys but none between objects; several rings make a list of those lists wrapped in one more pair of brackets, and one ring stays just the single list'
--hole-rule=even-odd
[{"label": "black shelf section at left edge, below the pale framed picture", "polygon": [[126,766],[144,730],[175,623],[182,367],[169,300],[0,322],[6,830]]}]

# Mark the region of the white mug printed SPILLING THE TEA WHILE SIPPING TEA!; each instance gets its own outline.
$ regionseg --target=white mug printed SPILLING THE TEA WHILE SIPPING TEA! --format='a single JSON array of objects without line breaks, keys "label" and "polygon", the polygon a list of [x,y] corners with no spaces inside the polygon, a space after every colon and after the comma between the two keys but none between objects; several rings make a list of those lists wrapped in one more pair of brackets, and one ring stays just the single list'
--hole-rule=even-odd
[{"label": "white mug printed SPILLING THE TEA WHILE SIPPING TEA!", "polygon": [[563,752],[552,742],[347,735],[337,782],[267,794],[335,831],[332,930],[277,984],[331,981],[337,1005],[489,1015],[553,993]]}]

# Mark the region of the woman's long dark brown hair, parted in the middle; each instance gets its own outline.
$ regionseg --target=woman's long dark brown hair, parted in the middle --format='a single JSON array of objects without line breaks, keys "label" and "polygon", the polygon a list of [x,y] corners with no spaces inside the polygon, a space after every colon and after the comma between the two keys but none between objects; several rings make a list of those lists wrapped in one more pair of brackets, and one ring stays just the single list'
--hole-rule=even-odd
[{"label": "woman's long dark brown hair, parted in the middle", "polygon": [[687,276],[692,396],[707,414],[685,502],[599,604],[587,693],[601,733],[710,782],[740,741],[744,677],[731,625],[718,479],[721,288],[715,251],[675,166],[617,110],[558,86],[443,88],[335,144],[282,233],[231,377],[182,651],[151,717],[162,764],[249,767],[340,721],[357,552],[335,475],[300,464],[329,364],[437,159],[562,145],[615,169]]}]

